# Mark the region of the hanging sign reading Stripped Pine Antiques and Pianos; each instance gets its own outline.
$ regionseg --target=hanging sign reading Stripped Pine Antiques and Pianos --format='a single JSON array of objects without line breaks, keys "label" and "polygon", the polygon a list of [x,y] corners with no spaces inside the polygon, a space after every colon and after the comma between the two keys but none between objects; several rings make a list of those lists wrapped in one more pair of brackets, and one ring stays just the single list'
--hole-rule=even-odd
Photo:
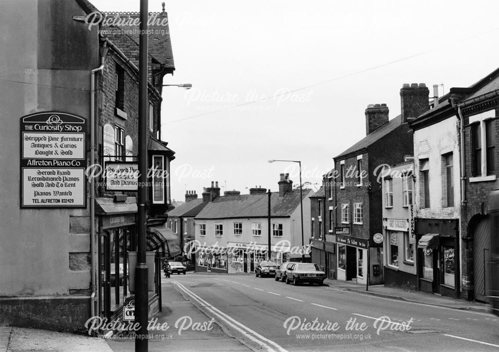
[{"label": "hanging sign reading Stripped Pine Antiques and Pianos", "polygon": [[137,191],[139,165],[136,162],[108,161],[104,171],[107,191]]}]

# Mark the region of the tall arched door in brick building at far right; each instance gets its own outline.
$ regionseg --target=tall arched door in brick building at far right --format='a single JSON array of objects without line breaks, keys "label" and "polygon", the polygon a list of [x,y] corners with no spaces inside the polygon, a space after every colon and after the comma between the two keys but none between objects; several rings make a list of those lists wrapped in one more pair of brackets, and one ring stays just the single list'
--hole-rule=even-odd
[{"label": "tall arched door in brick building at far right", "polygon": [[481,220],[473,235],[473,269],[475,273],[475,299],[490,302],[489,289],[490,225],[487,219]]}]

